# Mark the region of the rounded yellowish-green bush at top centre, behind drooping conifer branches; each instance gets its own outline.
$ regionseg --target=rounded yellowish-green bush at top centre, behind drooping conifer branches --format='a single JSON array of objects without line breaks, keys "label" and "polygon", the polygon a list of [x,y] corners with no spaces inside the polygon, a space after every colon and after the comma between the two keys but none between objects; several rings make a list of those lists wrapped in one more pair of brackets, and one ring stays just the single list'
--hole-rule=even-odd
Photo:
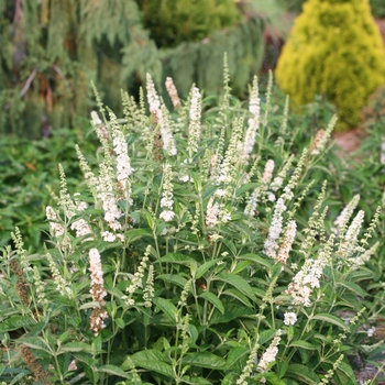
[{"label": "rounded yellowish-green bush at top centre, behind drooping conifer branches", "polygon": [[160,47],[197,42],[241,21],[233,0],[136,0]]}]

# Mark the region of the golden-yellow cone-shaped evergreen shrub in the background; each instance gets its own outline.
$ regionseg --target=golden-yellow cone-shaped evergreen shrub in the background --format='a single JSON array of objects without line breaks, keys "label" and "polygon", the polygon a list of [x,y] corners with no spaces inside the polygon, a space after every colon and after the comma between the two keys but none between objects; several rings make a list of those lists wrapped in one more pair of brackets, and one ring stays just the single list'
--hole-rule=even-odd
[{"label": "golden-yellow cone-shaped evergreen shrub in the background", "polygon": [[300,106],[315,94],[336,105],[339,129],[356,127],[385,82],[385,52],[367,1],[309,0],[279,56],[279,86]]}]

